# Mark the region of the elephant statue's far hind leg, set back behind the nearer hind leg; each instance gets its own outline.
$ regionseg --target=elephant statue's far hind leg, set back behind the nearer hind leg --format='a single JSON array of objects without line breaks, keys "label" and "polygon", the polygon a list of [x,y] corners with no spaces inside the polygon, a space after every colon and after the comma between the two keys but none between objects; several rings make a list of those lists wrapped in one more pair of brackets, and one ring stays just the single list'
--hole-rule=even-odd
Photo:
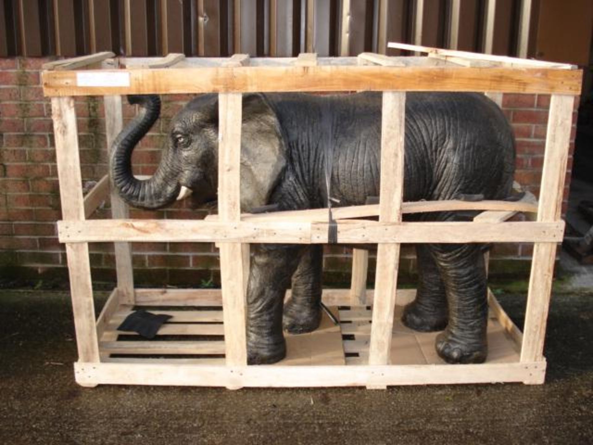
[{"label": "elephant statue's far hind leg, set back behind the nearer hind leg", "polygon": [[443,330],[447,326],[447,294],[438,266],[426,244],[416,245],[418,290],[416,299],[404,307],[401,322],[421,332]]}]

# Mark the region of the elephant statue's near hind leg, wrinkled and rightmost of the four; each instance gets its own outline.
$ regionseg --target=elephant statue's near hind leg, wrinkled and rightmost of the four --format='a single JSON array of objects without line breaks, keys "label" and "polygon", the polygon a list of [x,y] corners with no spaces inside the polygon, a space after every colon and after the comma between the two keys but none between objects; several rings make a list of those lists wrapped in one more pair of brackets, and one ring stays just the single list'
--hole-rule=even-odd
[{"label": "elephant statue's near hind leg, wrinkled and rightmost of the four", "polygon": [[449,323],[436,337],[448,363],[483,363],[487,355],[486,268],[479,244],[431,245],[447,293]]}]

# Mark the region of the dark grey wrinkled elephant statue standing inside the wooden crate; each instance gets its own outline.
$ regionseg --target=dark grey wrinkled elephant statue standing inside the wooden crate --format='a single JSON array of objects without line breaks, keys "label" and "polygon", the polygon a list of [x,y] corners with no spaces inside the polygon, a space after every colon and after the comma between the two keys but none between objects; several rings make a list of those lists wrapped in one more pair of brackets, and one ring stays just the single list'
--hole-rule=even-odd
[{"label": "dark grey wrinkled elephant statue standing inside the wooden crate", "polygon": [[[193,191],[193,204],[216,199],[218,95],[203,94],[171,120],[160,165],[146,180],[132,174],[134,147],[160,115],[158,96],[129,96],[139,113],[113,142],[112,185],[132,206],[157,209]],[[381,94],[244,94],[241,210],[323,208],[378,196]],[[331,150],[328,150],[331,145]],[[511,195],[514,136],[499,107],[477,93],[408,93],[404,201]],[[331,156],[328,155],[331,153]],[[326,160],[327,157],[327,160]],[[331,161],[330,181],[324,169]],[[325,175],[327,176],[327,175]],[[452,221],[454,212],[416,215]],[[416,300],[403,323],[443,330],[436,351],[448,363],[486,360],[487,288],[481,244],[417,244]],[[247,290],[248,363],[285,357],[283,329],[310,332],[321,319],[322,246],[253,244]],[[286,290],[292,297],[284,303]]]}]

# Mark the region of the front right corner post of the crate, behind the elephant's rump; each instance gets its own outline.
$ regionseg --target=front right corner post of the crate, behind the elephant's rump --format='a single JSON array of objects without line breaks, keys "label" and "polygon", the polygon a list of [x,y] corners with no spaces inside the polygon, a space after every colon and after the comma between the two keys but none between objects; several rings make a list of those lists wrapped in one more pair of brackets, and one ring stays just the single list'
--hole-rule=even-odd
[{"label": "front right corner post of the crate, behind the elephant's rump", "polygon": [[[560,220],[574,101],[573,96],[551,96],[537,221]],[[543,360],[555,260],[556,243],[534,244],[521,346],[522,362]]]}]

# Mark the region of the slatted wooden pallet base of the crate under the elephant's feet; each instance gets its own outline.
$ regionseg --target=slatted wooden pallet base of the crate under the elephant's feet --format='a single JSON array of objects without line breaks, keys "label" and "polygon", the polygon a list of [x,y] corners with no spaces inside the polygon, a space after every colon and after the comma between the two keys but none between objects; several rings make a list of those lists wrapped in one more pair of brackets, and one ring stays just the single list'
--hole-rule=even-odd
[{"label": "slatted wooden pallet base of the crate under the elephant's feet", "polygon": [[[372,300],[373,291],[368,291]],[[287,357],[275,365],[225,365],[219,290],[136,290],[136,306],[113,291],[97,320],[100,363],[76,363],[76,382],[224,387],[367,386],[399,384],[543,383],[546,362],[520,363],[521,332],[489,295],[488,360],[449,365],[436,355],[436,332],[415,332],[400,322],[415,290],[400,290],[394,317],[391,365],[369,366],[372,307],[350,306],[349,290],[326,290],[323,299],[339,319],[324,314],[315,332],[287,335]],[[135,308],[173,316],[153,340],[117,326]]]}]

